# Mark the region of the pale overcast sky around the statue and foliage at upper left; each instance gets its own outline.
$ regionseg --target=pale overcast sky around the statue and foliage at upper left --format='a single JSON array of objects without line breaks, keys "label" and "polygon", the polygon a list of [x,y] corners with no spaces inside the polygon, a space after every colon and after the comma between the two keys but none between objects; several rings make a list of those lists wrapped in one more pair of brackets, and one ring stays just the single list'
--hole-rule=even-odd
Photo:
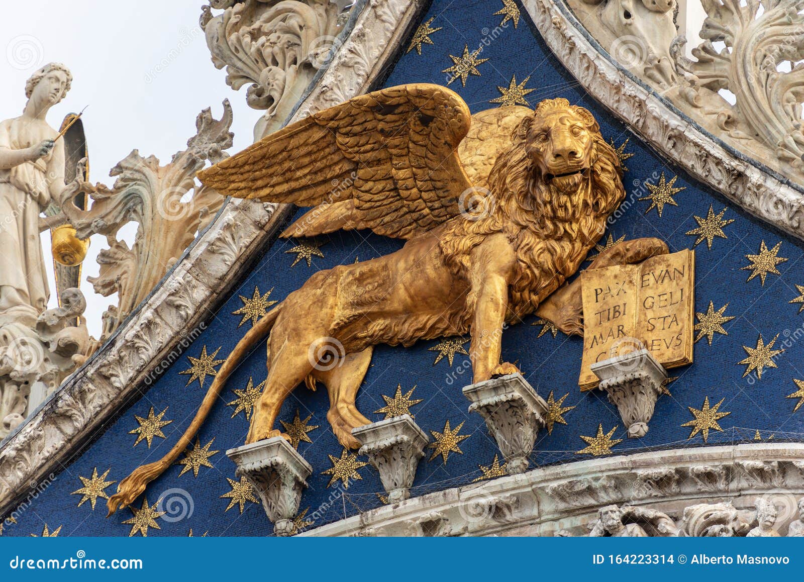
[{"label": "pale overcast sky around the statue and foliage at upper left", "polygon": [[[225,72],[211,63],[199,27],[202,0],[119,2],[117,0],[28,0],[3,2],[0,19],[0,115],[17,117],[25,105],[25,81],[51,61],[74,76],[72,90],[47,121],[55,129],[67,113],[84,113],[90,180],[111,186],[109,170],[133,149],[154,154],[162,164],[183,150],[195,134],[195,116],[211,107],[220,117],[228,97],[234,109],[232,131],[242,150],[252,141],[260,112],[245,105],[245,88],[232,91]],[[217,11],[216,11],[217,12]],[[133,228],[121,238],[129,240]],[[46,262],[50,237],[45,233]],[[90,333],[100,335],[100,315],[117,296],[92,291],[87,276],[98,274],[97,252],[105,238],[95,236],[84,261],[81,289],[87,297]],[[55,302],[51,275],[51,306]]]}]

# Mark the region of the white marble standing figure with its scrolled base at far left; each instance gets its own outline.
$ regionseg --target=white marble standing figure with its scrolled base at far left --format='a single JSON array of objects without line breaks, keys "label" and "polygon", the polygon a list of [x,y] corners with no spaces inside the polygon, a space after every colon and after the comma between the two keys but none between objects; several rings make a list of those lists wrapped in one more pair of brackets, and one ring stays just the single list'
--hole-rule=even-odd
[{"label": "white marble standing figure with its scrolled base at far left", "polygon": [[42,213],[65,186],[64,140],[47,125],[47,112],[71,82],[63,64],[45,65],[27,81],[23,114],[0,122],[0,438],[83,361],[88,341],[79,289],[67,289],[64,305],[46,311],[39,239],[58,224]]}]

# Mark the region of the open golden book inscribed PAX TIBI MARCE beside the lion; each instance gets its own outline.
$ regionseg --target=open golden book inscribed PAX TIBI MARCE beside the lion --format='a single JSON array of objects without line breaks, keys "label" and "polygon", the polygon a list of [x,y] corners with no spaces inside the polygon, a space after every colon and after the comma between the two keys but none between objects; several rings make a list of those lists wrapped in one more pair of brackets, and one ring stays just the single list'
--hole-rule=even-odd
[{"label": "open golden book inscribed PAX TIBI MARCE beside the lion", "polygon": [[658,255],[639,264],[587,269],[584,357],[578,384],[597,386],[593,363],[633,350],[650,350],[666,368],[692,363],[695,251]]}]

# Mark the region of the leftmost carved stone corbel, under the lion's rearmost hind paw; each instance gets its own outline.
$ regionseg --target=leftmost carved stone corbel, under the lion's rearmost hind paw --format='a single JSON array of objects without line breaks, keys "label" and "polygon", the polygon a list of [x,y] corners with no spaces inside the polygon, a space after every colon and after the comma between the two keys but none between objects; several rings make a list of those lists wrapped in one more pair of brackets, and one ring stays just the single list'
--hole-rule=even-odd
[{"label": "leftmost carved stone corbel, under the lion's rearmost hind paw", "polygon": [[284,437],[229,449],[226,455],[237,465],[235,474],[246,477],[260,496],[265,514],[273,522],[273,533],[290,535],[301,490],[313,473],[310,464]]}]

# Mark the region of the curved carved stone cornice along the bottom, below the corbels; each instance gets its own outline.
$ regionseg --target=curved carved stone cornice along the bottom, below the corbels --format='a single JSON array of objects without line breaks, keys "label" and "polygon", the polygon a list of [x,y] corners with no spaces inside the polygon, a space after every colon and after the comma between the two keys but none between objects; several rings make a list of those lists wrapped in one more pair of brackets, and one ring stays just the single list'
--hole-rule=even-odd
[{"label": "curved carved stone cornice along the bottom, below the corbels", "polygon": [[[301,535],[586,535],[611,504],[683,517],[686,507],[757,497],[798,518],[804,494],[804,444],[761,443],[638,453],[576,461],[421,495]],[[777,523],[786,531],[786,523]]]}]

